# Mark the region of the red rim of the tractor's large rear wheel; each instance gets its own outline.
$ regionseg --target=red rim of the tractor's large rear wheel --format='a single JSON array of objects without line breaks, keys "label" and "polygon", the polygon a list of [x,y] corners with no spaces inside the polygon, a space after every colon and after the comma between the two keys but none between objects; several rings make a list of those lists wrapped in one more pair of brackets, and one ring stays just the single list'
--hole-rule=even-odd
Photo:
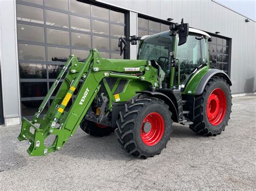
[{"label": "red rim of the tractor's large rear wheel", "polygon": [[207,101],[208,121],[214,125],[219,125],[226,114],[227,100],[222,89],[216,88],[212,91]]}]

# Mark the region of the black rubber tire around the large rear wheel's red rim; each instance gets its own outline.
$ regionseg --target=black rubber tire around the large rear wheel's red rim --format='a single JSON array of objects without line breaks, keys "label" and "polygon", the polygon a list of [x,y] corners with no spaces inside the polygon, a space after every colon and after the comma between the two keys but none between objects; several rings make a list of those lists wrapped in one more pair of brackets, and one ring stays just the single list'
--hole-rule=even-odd
[{"label": "black rubber tire around the large rear wheel's red rim", "polygon": [[[207,101],[215,89],[221,89],[226,97],[226,112],[219,124],[216,122],[214,125],[207,117]],[[222,77],[212,77],[206,84],[203,94],[196,97],[194,122],[190,125],[190,129],[199,135],[216,136],[225,130],[230,119],[232,107],[232,97],[230,85]]]}]

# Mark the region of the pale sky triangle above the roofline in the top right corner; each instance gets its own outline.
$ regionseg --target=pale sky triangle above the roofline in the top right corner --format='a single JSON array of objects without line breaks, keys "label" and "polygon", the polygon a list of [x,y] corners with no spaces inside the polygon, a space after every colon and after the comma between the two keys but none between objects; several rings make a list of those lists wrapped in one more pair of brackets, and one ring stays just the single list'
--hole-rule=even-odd
[{"label": "pale sky triangle above the roofline in the top right corner", "polygon": [[225,5],[241,15],[256,20],[256,0],[215,0],[215,2]]}]

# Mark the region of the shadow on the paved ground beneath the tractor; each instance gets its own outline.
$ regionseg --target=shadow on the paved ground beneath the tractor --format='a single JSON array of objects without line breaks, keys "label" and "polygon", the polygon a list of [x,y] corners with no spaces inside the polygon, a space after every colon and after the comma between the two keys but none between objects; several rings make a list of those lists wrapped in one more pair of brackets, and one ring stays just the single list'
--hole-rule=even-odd
[{"label": "shadow on the paved ground beneath the tractor", "polygon": [[[136,159],[126,153],[117,142],[117,137],[112,133],[107,137],[93,137],[84,133],[82,130],[78,130],[78,136],[75,136],[69,140],[62,151],[58,152],[64,155],[70,155],[72,157],[81,157],[91,160],[133,160]],[[188,126],[173,124],[172,138],[200,138],[191,131]],[[168,145],[167,145],[168,146]],[[170,145],[169,145],[170,146]]]}]

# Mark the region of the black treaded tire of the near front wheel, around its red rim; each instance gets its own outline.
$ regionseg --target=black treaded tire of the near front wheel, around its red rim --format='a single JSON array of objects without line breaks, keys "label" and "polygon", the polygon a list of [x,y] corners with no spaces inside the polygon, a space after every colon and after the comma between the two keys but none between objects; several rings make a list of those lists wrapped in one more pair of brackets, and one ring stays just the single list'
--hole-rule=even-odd
[{"label": "black treaded tire of the near front wheel, around its red rim", "polygon": [[[155,145],[148,146],[143,141],[141,131],[144,128],[142,123],[144,122],[145,125],[144,119],[147,116],[151,116],[151,114],[162,117],[160,119],[163,122],[161,124],[164,124],[164,129],[161,130],[163,136],[158,138],[158,142],[155,142]],[[157,98],[148,97],[132,100],[131,103],[125,104],[124,111],[119,113],[120,118],[117,121],[117,129],[115,130],[118,142],[126,152],[138,158],[146,159],[160,154],[170,140],[172,132],[171,115],[169,106]],[[157,126],[157,128],[160,129],[160,126]]]}]

